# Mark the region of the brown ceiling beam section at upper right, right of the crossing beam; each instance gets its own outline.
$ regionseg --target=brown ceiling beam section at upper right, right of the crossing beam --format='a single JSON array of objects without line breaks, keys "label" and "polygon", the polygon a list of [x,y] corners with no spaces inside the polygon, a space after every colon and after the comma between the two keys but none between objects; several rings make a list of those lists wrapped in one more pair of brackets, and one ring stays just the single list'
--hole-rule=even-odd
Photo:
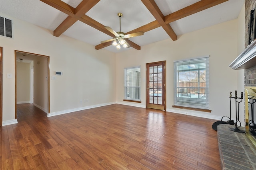
[{"label": "brown ceiling beam section at upper right, right of the crossing beam", "polygon": [[172,14],[165,16],[164,21],[166,24],[171,23],[173,21],[180,20],[181,18],[190,16],[190,15],[200,12],[202,10],[206,10],[208,8],[211,8],[213,6],[216,6],[216,5],[226,2],[226,1],[228,1],[228,0],[201,0],[201,1],[196,2],[190,6],[182,8],[181,10],[178,10]]}]

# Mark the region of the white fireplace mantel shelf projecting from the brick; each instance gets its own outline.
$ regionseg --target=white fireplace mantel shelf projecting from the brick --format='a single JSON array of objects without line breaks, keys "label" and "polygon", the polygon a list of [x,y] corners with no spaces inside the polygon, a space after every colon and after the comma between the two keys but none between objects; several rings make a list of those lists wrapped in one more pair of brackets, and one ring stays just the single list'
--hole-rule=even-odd
[{"label": "white fireplace mantel shelf projecting from the brick", "polygon": [[247,69],[256,65],[256,39],[229,65],[234,70]]}]

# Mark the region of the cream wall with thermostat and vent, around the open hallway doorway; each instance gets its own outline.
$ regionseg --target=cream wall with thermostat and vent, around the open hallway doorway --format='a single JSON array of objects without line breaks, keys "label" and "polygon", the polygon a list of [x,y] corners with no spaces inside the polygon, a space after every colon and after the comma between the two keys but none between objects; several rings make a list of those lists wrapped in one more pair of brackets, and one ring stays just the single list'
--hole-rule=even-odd
[{"label": "cream wall with thermostat and vent, around the open hallway doorway", "polygon": [[[3,47],[3,122],[15,119],[14,50],[50,56],[50,114],[69,112],[87,106],[116,101],[115,54],[104,49],[17,20],[13,21],[13,38],[0,36]],[[36,63],[34,63],[36,64]],[[55,76],[62,71],[63,76]],[[12,78],[7,78],[7,73]],[[81,101],[81,102],[80,102]]]}]

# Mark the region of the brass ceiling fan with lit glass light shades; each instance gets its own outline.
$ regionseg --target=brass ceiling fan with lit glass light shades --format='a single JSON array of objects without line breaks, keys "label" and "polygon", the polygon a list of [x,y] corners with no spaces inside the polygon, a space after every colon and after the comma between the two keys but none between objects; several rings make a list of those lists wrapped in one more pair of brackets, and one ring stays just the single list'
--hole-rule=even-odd
[{"label": "brass ceiling fan with lit glass light shades", "polygon": [[130,47],[130,45],[127,43],[127,41],[125,41],[125,39],[131,38],[131,37],[136,37],[136,36],[144,34],[142,31],[137,32],[137,33],[126,34],[126,35],[123,32],[121,32],[121,17],[122,17],[122,15],[123,15],[122,13],[117,14],[117,16],[119,16],[120,31],[116,32],[110,27],[104,27],[108,31],[110,31],[112,34],[114,34],[116,36],[116,38],[101,41],[101,43],[106,43],[106,42],[109,42],[109,41],[113,41],[112,45],[114,45],[117,50],[119,50],[121,48],[121,45],[124,48],[129,48]]}]

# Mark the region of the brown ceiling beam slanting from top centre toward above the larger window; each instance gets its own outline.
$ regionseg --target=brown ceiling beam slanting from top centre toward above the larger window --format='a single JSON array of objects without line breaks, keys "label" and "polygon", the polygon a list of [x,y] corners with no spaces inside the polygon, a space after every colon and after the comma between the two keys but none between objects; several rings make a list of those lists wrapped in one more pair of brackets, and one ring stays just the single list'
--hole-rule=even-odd
[{"label": "brown ceiling beam slanting from top centre toward above the larger window", "polygon": [[166,33],[171,37],[173,41],[177,40],[177,35],[173,31],[172,27],[169,23],[164,22],[164,15],[161,10],[158,8],[156,2],[154,0],[141,0],[142,3],[148,8],[150,13],[156,18],[156,21],[163,27]]}]

